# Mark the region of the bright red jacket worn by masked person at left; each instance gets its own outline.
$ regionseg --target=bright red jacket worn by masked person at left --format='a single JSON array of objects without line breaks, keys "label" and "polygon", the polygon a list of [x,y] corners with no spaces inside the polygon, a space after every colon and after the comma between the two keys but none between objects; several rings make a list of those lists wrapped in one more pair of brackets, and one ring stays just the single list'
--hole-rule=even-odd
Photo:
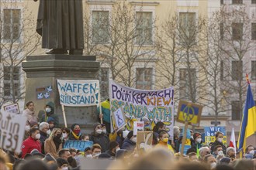
[{"label": "bright red jacket worn by masked person at left", "polygon": [[35,140],[34,138],[32,138],[31,136],[29,136],[29,138],[27,138],[25,141],[23,141],[22,143],[22,158],[24,158],[24,156],[26,154],[30,154],[30,152],[33,149],[37,149],[38,151],[40,151],[40,153],[42,153],[41,151],[41,143],[39,140]]}]

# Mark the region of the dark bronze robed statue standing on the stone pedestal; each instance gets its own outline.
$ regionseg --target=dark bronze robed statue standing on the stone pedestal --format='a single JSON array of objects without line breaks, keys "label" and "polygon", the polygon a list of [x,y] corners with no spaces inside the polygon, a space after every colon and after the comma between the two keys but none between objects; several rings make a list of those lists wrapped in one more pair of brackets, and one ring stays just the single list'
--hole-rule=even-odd
[{"label": "dark bronze robed statue standing on the stone pedestal", "polygon": [[47,54],[83,53],[82,10],[82,0],[40,0],[36,32]]}]

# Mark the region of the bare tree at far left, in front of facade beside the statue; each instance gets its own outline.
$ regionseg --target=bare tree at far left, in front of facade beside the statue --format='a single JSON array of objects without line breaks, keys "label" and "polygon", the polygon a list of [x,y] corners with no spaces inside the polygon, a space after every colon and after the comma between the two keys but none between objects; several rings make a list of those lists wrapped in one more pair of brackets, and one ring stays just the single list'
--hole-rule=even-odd
[{"label": "bare tree at far left, in front of facade beside the statue", "polygon": [[[0,19],[1,87],[0,106],[6,101],[16,103],[25,93],[21,84],[21,63],[40,45],[40,36],[30,30],[36,28],[35,19],[26,5],[2,2]],[[22,7],[22,9],[19,9]]]}]

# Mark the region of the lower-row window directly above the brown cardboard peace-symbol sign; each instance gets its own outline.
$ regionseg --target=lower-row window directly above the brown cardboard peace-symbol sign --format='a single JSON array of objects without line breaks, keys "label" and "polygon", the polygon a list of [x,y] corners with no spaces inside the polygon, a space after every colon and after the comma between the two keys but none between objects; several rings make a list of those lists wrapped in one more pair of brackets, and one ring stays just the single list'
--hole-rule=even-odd
[{"label": "lower-row window directly above the brown cardboard peace-symbol sign", "polygon": [[[190,75],[189,75],[189,72],[190,72]],[[181,99],[191,100],[195,98],[196,72],[195,72],[195,69],[190,69],[189,72],[188,72],[188,69],[179,70],[179,80],[180,80],[179,97]],[[189,79],[189,76],[191,76],[190,79]],[[192,83],[189,83],[189,80],[192,80]],[[192,89],[192,92],[190,92],[190,89]]]}]

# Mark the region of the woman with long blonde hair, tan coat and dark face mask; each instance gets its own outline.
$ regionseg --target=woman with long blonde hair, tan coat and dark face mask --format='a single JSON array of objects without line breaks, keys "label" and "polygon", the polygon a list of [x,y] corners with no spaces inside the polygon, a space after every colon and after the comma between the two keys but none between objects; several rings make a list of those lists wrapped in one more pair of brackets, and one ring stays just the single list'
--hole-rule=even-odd
[{"label": "woman with long blonde hair, tan coat and dark face mask", "polygon": [[50,137],[44,143],[45,154],[53,155],[57,158],[57,153],[62,149],[62,131],[60,128],[54,128],[51,132]]}]

